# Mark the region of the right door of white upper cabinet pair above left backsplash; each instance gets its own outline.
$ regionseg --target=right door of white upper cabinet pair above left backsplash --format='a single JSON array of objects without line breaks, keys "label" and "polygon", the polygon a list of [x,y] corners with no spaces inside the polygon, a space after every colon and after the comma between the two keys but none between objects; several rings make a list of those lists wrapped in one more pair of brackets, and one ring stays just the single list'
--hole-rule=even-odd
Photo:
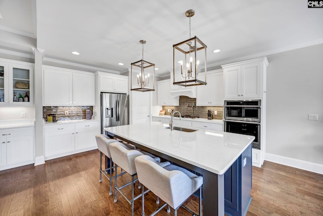
[{"label": "right door of white upper cabinet pair above left backsplash", "polygon": [[73,105],[95,105],[95,76],[73,73]]}]

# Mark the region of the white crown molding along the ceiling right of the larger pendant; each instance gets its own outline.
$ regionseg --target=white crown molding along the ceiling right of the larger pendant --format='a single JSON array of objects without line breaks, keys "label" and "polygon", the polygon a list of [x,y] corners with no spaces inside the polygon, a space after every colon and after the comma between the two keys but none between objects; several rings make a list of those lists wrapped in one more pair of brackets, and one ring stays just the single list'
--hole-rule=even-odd
[{"label": "white crown molding along the ceiling right of the larger pendant", "polygon": [[227,60],[227,61],[207,64],[207,67],[208,68],[209,67],[216,67],[216,66],[220,66],[220,65],[233,63],[233,62],[240,62],[240,61],[245,61],[245,60],[249,60],[249,59],[255,59],[255,58],[259,58],[259,57],[264,57],[264,56],[273,55],[273,54],[277,54],[277,53],[283,53],[283,52],[296,50],[296,49],[300,49],[300,48],[305,48],[305,47],[310,47],[310,46],[319,45],[319,44],[323,44],[323,38],[318,39],[318,40],[308,41],[308,42],[305,42],[305,43],[299,44],[299,45],[280,48],[280,49],[277,49],[277,50],[271,50],[271,51],[266,51],[266,52],[263,52],[263,53],[253,54],[253,55],[250,55],[250,56],[244,56],[244,57],[231,59],[231,60]]}]

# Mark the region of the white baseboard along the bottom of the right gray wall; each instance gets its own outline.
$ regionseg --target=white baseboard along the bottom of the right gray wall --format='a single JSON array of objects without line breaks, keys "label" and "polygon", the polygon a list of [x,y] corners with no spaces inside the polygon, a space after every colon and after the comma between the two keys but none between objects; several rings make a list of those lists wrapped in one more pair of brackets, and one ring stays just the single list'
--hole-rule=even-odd
[{"label": "white baseboard along the bottom of the right gray wall", "polygon": [[311,172],[316,172],[318,174],[323,174],[323,164],[312,163],[304,160],[299,160],[290,157],[284,157],[276,154],[265,154],[265,160],[274,163],[283,164],[286,166],[291,166],[299,169],[304,169]]}]

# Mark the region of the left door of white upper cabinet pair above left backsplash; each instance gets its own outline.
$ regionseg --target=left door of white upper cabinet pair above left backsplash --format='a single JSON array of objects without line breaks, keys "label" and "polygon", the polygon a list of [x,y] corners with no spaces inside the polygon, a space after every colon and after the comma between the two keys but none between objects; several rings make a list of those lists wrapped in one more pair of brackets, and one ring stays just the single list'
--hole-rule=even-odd
[{"label": "left door of white upper cabinet pair above left backsplash", "polygon": [[72,79],[71,72],[44,69],[44,105],[73,105]]}]

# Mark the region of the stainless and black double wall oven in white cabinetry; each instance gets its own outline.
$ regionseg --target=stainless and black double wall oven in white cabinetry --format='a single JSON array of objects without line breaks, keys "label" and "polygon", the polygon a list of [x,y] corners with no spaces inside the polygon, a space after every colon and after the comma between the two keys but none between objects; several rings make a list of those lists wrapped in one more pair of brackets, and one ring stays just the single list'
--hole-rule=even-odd
[{"label": "stainless and black double wall oven in white cabinetry", "polygon": [[225,101],[225,132],[254,136],[252,148],[260,149],[260,100]]}]

